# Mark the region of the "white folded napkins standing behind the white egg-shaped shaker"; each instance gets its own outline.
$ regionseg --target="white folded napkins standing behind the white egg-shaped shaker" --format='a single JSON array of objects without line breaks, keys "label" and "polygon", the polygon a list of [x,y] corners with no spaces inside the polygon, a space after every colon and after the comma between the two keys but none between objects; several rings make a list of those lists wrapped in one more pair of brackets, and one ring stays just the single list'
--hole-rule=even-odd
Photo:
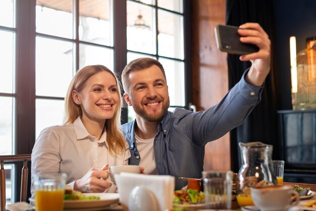
[{"label": "white folded napkins standing behind the white egg-shaped shaker", "polygon": [[168,175],[145,175],[122,172],[115,175],[115,181],[120,194],[120,202],[124,206],[129,204],[129,196],[137,186],[149,189],[157,199],[159,210],[172,208],[175,189],[175,177]]}]

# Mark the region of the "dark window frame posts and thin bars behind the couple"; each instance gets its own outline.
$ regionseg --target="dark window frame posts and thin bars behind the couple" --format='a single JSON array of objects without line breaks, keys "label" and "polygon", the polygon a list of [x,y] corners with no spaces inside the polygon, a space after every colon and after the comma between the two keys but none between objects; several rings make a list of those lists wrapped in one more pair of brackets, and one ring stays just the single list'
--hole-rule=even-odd
[{"label": "dark window frame posts and thin bars behind the couple", "polygon": [[[135,1],[137,3],[143,4],[141,2]],[[191,0],[183,0],[183,26],[184,26],[184,60],[173,59],[176,61],[183,61],[185,68],[185,109],[189,109],[189,102],[192,101],[192,57],[191,57]],[[76,26],[75,32],[78,34],[78,24],[79,24],[79,0],[74,1],[74,24]],[[156,10],[158,10],[157,2],[155,4]],[[37,98],[41,99],[63,99],[63,97],[45,97],[35,95],[35,39],[36,36],[41,37],[51,37],[51,35],[43,35],[36,32],[36,0],[23,0],[15,1],[15,18],[16,24],[15,28],[0,26],[1,30],[6,30],[14,32],[16,35],[15,44],[15,93],[0,93],[0,96],[10,96],[15,98],[15,109],[13,112],[15,115],[14,125],[13,125],[13,137],[15,144],[13,152],[14,154],[28,154],[32,152],[35,143],[35,101]],[[118,75],[121,81],[121,73],[126,66],[127,61],[127,39],[126,39],[126,11],[127,2],[126,0],[113,0],[113,21],[114,21],[114,72]],[[162,10],[162,8],[159,8]],[[164,9],[166,10],[166,9]],[[173,12],[166,10],[168,12]],[[178,12],[173,12],[179,14]],[[156,13],[156,32],[157,31],[157,13]],[[59,40],[71,40],[74,39],[57,37]],[[78,38],[75,39],[76,47],[79,43],[85,43],[84,41],[79,41]],[[91,43],[89,43],[91,44]],[[96,44],[97,45],[97,44]],[[158,55],[158,43],[156,41],[156,59],[159,57],[172,59],[168,57],[162,57]],[[77,48],[79,49],[79,48]],[[131,51],[133,52],[133,51]],[[152,55],[151,55],[152,56]],[[76,50],[76,64],[74,64],[76,70],[79,67],[79,54]],[[122,89],[123,94],[123,89]],[[125,100],[123,100],[125,101]],[[126,105],[126,103],[124,102]],[[128,120],[127,106],[122,109],[122,124],[126,123]],[[30,163],[30,162],[29,162]],[[16,164],[15,170],[21,169],[20,164]],[[22,164],[21,164],[22,165]],[[31,169],[30,164],[28,164],[28,169]],[[21,172],[15,171],[16,177],[15,182],[15,193],[20,192],[21,184],[18,182],[21,180]],[[31,171],[28,174],[28,190],[27,198],[30,197],[30,184],[31,184]],[[20,196],[15,194],[13,196],[14,201],[19,201]]]}]

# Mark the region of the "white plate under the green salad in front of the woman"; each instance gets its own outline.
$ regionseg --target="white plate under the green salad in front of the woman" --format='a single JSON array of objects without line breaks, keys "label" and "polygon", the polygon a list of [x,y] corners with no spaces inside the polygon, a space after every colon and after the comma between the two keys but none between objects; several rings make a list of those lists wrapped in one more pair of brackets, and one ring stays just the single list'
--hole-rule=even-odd
[{"label": "white plate under the green salad in front of the woman", "polygon": [[[85,196],[100,196],[100,200],[64,200],[65,210],[102,210],[102,208],[119,202],[119,193],[83,193]],[[29,198],[31,202],[35,199]],[[89,208],[89,209],[86,209]]]}]

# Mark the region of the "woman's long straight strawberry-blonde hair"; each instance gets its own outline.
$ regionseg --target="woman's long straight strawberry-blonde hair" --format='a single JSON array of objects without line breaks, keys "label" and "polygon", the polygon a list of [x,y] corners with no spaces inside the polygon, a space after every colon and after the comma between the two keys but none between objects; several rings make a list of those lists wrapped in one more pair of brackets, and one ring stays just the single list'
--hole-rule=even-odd
[{"label": "woman's long straight strawberry-blonde hair", "polygon": [[115,76],[115,74],[107,67],[103,65],[91,65],[82,68],[80,71],[76,73],[70,82],[67,95],[65,98],[65,113],[66,113],[66,121],[65,123],[74,123],[74,121],[78,118],[78,116],[82,117],[82,110],[80,105],[76,104],[72,98],[73,90],[77,92],[81,92],[84,88],[85,82],[93,75],[106,71],[111,73],[116,80],[116,85],[118,87],[119,94],[119,102],[117,111],[115,111],[112,119],[108,119],[106,124],[104,124],[104,128],[107,131],[107,142],[109,145],[109,152],[111,155],[122,154],[125,150],[126,140],[121,131],[121,108],[122,108],[122,97],[121,97],[121,89],[120,84]]}]

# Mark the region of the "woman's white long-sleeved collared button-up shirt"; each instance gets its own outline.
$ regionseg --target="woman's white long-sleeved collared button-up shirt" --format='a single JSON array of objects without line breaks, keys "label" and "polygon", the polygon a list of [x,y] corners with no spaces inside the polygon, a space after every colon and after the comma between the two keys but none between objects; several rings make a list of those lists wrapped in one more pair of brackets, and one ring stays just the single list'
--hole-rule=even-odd
[{"label": "woman's white long-sleeved collared button-up shirt", "polygon": [[[34,174],[66,173],[67,184],[73,188],[74,181],[82,178],[93,166],[101,168],[109,164],[110,168],[128,165],[130,156],[127,143],[123,154],[111,156],[106,131],[97,140],[88,133],[79,117],[72,124],[45,128],[32,151],[32,196]],[[110,177],[108,181],[111,181]],[[112,185],[105,192],[116,192],[116,186]]]}]

